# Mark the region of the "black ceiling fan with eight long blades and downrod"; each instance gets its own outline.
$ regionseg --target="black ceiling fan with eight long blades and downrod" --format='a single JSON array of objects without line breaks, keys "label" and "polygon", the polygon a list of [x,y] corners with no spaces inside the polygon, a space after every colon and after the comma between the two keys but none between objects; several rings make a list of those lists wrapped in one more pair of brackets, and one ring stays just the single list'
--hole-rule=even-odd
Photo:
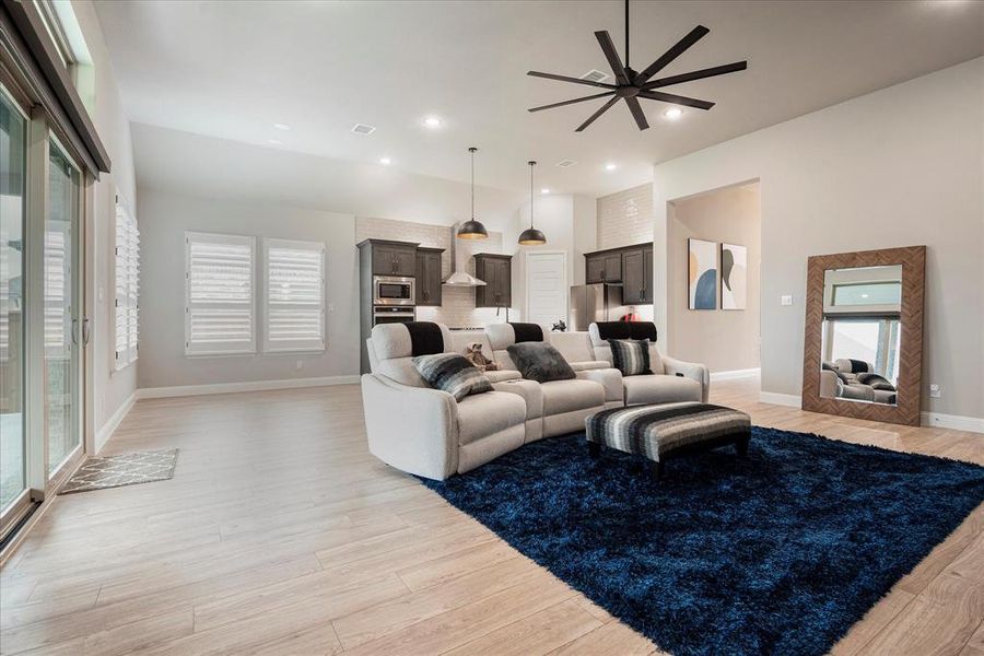
[{"label": "black ceiling fan with eight long blades and downrod", "polygon": [[714,106],[714,103],[700,101],[696,98],[689,98],[687,96],[676,95],[671,93],[664,93],[656,90],[664,86],[670,86],[672,84],[680,84],[682,82],[691,82],[693,80],[703,80],[704,78],[714,78],[715,75],[724,75],[726,73],[743,71],[748,68],[747,61],[736,61],[734,63],[725,63],[723,66],[715,66],[712,68],[701,69],[699,71],[681,73],[679,75],[656,78],[655,80],[652,79],[653,75],[666,68],[671,61],[682,55],[688,48],[690,48],[690,46],[703,38],[708,32],[711,32],[708,28],[704,27],[703,25],[698,25],[696,27],[691,30],[687,36],[677,42],[677,44],[673,45],[669,50],[664,52],[656,61],[647,66],[642,72],[636,72],[629,66],[629,0],[625,0],[624,66],[619,59],[618,52],[616,52],[614,44],[612,44],[611,36],[608,34],[608,31],[605,30],[595,33],[595,37],[598,39],[598,44],[601,46],[601,51],[605,52],[605,57],[608,59],[609,66],[611,66],[611,72],[614,73],[616,82],[618,84],[605,84],[602,82],[594,82],[591,80],[583,80],[581,78],[571,78],[567,75],[557,75],[554,73],[529,71],[526,74],[532,75],[534,78],[547,78],[548,80],[573,82],[574,84],[586,84],[588,86],[599,86],[607,90],[604,93],[596,93],[594,95],[574,98],[572,101],[563,101],[562,103],[552,103],[550,105],[532,107],[531,109],[529,109],[529,112],[542,112],[543,109],[553,109],[554,107],[563,107],[565,105],[573,105],[574,103],[583,103],[585,101],[593,101],[595,98],[612,96],[608,99],[608,102],[601,105],[600,109],[591,114],[586,121],[578,126],[575,132],[581,132],[589,125],[595,122],[595,119],[611,109],[611,107],[620,99],[624,99],[625,104],[629,105],[629,110],[635,118],[635,124],[639,126],[640,130],[647,129],[649,127],[649,124],[648,121],[646,121],[646,115],[642,110],[639,98],[645,98],[647,101],[659,101],[661,103],[669,103],[671,105],[695,107],[698,109],[710,109]]}]

